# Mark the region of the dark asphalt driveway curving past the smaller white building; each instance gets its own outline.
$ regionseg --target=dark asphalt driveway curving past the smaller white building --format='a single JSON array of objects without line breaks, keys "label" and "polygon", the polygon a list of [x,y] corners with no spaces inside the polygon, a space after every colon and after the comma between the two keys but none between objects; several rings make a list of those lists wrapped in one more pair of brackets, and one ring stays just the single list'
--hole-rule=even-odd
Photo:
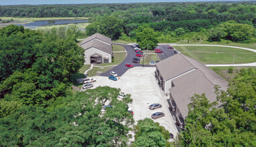
[{"label": "dark asphalt driveway curving past the smaller white building", "polygon": [[[123,45],[119,43],[113,43],[113,44],[124,46],[127,52],[126,59],[124,59],[122,63],[120,63],[119,65],[116,65],[112,69],[105,71],[104,73],[101,73],[99,76],[110,76],[110,71],[115,71],[116,73],[118,73],[118,76],[122,76],[128,69],[130,69],[130,67],[126,67],[126,63],[130,63],[134,65],[134,67],[142,67],[142,64],[132,63],[132,59],[135,57],[136,52],[132,47],[130,47],[131,45]],[[141,58],[142,60],[142,57],[138,57],[138,58],[139,59]],[[140,63],[142,63],[142,61],[140,61]],[[144,65],[144,67],[155,67],[155,65]]]}]

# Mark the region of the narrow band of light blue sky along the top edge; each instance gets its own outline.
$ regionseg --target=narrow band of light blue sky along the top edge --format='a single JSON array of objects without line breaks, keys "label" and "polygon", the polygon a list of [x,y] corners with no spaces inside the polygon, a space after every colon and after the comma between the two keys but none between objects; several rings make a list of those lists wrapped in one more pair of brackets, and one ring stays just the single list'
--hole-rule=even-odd
[{"label": "narrow band of light blue sky along the top edge", "polygon": [[[78,4],[78,3],[158,3],[225,0],[0,0],[0,5],[41,5],[41,4]],[[233,0],[226,0],[233,1]],[[251,0],[242,0],[251,1]]]}]

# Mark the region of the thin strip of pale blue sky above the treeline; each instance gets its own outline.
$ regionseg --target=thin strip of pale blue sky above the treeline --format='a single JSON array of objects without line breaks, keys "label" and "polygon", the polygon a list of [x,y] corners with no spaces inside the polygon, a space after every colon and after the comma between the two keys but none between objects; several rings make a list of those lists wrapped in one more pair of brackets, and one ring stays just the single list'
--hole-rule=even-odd
[{"label": "thin strip of pale blue sky above the treeline", "polygon": [[[0,5],[79,5],[79,4],[101,4],[101,3],[189,3],[189,2],[224,2],[223,0],[94,0],[94,1],[83,1],[73,0],[72,3],[68,0],[44,0],[44,1],[33,1],[33,0],[1,0]],[[232,0],[226,0],[229,2],[235,2]],[[255,1],[255,0],[243,0],[243,1]],[[239,0],[237,1],[239,2]]]}]

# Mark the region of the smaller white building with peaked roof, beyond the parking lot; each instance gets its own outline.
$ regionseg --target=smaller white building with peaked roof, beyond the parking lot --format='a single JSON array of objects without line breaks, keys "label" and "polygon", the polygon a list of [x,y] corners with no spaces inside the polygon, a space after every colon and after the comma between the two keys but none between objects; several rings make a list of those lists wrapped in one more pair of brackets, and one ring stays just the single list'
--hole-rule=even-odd
[{"label": "smaller white building with peaked roof, beyond the parking lot", "polygon": [[112,62],[112,41],[109,37],[95,33],[94,35],[83,39],[80,46],[85,49],[84,64],[101,64]]}]

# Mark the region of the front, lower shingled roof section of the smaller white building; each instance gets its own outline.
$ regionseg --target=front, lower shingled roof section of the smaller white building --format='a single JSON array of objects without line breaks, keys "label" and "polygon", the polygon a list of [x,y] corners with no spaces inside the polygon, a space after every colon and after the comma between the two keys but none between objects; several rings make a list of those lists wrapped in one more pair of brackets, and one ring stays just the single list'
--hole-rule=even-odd
[{"label": "front, lower shingled roof section of the smaller white building", "polygon": [[91,47],[95,47],[101,51],[105,51],[107,53],[110,53],[112,54],[113,51],[112,51],[112,46],[111,45],[107,45],[106,43],[103,43],[97,39],[93,39],[87,43],[84,43],[82,45],[80,45],[81,47],[83,47],[83,49],[89,49]]}]

